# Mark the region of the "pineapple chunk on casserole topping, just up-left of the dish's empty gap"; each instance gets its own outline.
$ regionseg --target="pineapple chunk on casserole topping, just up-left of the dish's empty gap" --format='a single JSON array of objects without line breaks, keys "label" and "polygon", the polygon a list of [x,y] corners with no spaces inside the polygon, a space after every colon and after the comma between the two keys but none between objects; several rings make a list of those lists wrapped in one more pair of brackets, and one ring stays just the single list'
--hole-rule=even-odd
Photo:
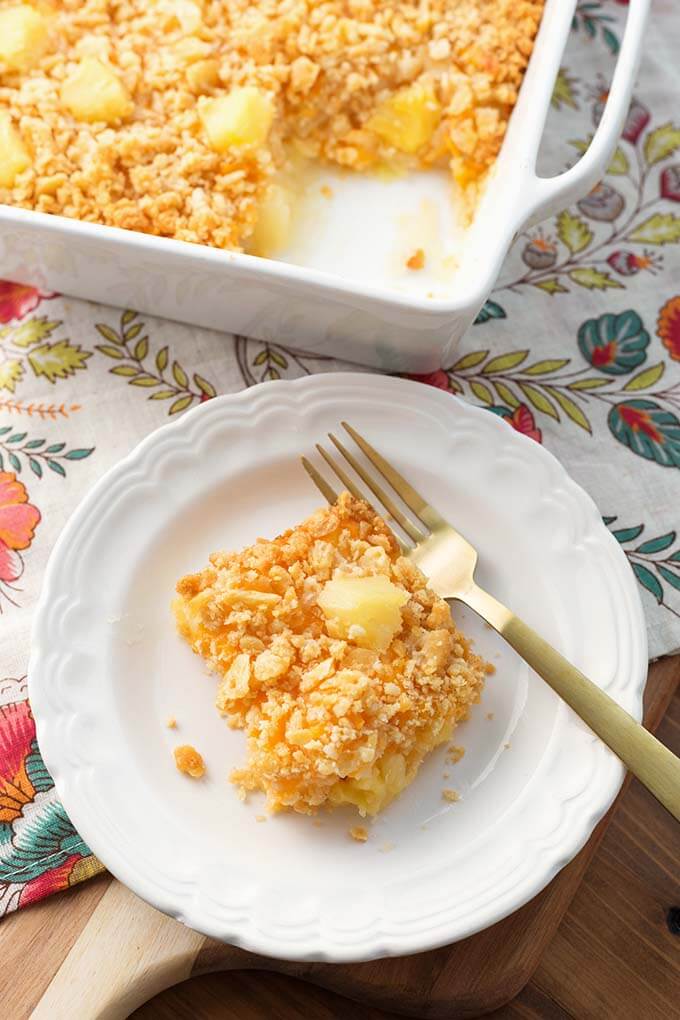
[{"label": "pineapple chunk on casserole topping, just up-left of the dish's empty gap", "polygon": [[234,145],[262,145],[274,108],[266,93],[247,85],[232,89],[226,96],[204,100],[199,115],[212,148],[227,152]]}]

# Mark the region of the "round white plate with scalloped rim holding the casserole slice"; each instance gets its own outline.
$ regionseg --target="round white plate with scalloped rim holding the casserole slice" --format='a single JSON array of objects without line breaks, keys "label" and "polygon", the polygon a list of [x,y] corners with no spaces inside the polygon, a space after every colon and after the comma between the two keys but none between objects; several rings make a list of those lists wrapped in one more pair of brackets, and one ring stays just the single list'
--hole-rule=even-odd
[{"label": "round white plate with scalloped rim holding the casserole slice", "polygon": [[[481,705],[371,829],[256,821],[226,775],[245,738],[175,634],[175,579],[208,553],[274,536],[320,502],[299,464],[348,418],[479,550],[478,579],[640,717],[646,670],[635,583],[591,500],[541,447],[416,382],[329,374],[212,400],[146,439],[64,529],[35,620],[30,693],[40,745],[103,863],[208,935],[295,960],[366,960],[463,938],[535,896],[621,784],[615,757],[488,628]],[[165,726],[175,715],[178,728]],[[492,715],[489,718],[489,715]],[[192,743],[192,782],[172,748]],[[461,794],[444,802],[443,786]],[[394,844],[387,851],[386,845]]]}]

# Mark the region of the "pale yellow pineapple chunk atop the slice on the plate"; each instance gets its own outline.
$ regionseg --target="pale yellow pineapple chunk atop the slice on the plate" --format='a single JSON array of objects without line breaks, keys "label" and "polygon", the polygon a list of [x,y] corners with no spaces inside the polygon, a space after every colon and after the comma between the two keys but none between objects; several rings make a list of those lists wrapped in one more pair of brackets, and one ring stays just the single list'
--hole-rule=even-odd
[{"label": "pale yellow pineapple chunk atop the slice on the plate", "polygon": [[378,574],[335,577],[326,581],[317,601],[331,636],[381,652],[401,630],[401,610],[409,596]]}]

